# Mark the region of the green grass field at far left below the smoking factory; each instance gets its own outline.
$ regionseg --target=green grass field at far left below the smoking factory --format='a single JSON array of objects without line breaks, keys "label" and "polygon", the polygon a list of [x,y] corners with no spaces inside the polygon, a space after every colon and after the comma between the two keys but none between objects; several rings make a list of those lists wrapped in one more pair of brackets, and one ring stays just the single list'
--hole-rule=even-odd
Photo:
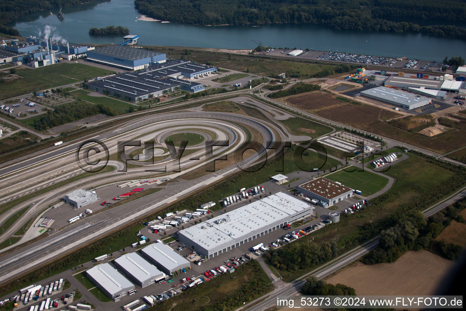
[{"label": "green grass field at far left below the smoking factory", "polygon": [[18,68],[16,74],[21,78],[2,84],[0,99],[47,90],[65,84],[78,83],[84,79],[108,73],[112,72],[79,63],[60,63],[35,69]]}]

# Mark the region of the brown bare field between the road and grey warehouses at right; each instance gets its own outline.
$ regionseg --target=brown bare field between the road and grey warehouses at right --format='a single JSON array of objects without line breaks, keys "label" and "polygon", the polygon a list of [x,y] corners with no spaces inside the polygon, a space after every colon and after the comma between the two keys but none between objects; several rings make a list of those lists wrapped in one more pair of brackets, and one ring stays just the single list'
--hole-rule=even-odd
[{"label": "brown bare field between the road and grey warehouses at right", "polygon": [[[401,117],[401,114],[395,111],[357,103],[354,100],[346,103],[343,100],[339,100],[335,95],[323,91],[283,97],[280,101],[287,103],[289,106],[329,118],[332,121],[369,131],[375,135],[393,138],[407,144],[419,145],[441,154],[466,146],[466,139],[464,139],[466,119],[461,119],[460,122],[457,122],[455,124],[456,129],[453,131],[446,131],[445,133],[429,137],[419,133],[411,133],[390,124],[389,120]],[[357,104],[352,104],[353,102]],[[465,113],[465,111],[459,111],[458,115],[460,113]]]}]

